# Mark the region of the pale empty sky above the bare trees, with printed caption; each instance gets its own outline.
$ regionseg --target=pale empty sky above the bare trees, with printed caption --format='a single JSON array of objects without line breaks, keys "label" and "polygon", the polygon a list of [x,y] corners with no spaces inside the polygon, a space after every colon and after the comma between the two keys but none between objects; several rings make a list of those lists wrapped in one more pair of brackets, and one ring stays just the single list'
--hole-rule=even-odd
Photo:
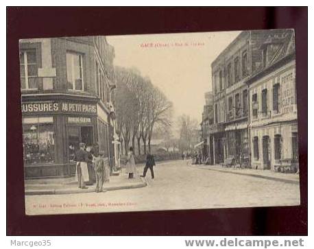
[{"label": "pale empty sky above the bare trees, with printed caption", "polygon": [[210,64],[240,32],[107,36],[114,65],[136,68],[173,102],[174,119],[200,123],[204,93],[211,91]]}]

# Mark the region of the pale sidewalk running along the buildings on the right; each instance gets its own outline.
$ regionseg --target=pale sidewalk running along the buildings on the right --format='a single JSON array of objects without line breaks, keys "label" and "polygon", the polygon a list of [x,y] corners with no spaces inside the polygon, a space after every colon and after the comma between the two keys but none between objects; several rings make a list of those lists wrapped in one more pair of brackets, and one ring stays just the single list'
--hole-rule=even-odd
[{"label": "pale sidewalk running along the buildings on the right", "polygon": [[278,180],[280,182],[287,182],[292,184],[299,184],[300,178],[298,174],[285,174],[278,173],[270,170],[263,169],[233,169],[221,167],[221,165],[192,165],[191,162],[188,164],[190,167],[196,167],[200,169],[208,169],[213,171],[219,171],[226,174],[237,174],[241,176],[252,176],[257,178],[264,178],[267,180]]}]

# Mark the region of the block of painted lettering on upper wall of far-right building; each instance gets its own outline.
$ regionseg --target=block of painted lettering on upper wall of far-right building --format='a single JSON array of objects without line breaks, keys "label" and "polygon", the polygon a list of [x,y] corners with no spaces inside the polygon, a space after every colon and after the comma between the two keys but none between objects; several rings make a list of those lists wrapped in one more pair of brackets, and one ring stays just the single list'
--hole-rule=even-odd
[{"label": "block of painted lettering on upper wall of far-right building", "polygon": [[295,78],[293,77],[293,71],[280,76],[280,85],[282,87],[282,113],[287,114],[293,112],[293,106],[295,105]]}]

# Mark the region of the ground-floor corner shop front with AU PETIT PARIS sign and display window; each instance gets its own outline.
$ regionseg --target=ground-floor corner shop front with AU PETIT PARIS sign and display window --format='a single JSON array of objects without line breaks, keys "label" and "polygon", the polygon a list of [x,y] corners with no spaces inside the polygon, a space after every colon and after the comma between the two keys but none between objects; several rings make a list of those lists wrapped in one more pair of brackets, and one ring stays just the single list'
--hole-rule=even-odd
[{"label": "ground-floor corner shop front with AU PETIT PARIS sign and display window", "polygon": [[22,117],[25,178],[73,176],[79,144],[98,140],[95,102],[23,99]]}]

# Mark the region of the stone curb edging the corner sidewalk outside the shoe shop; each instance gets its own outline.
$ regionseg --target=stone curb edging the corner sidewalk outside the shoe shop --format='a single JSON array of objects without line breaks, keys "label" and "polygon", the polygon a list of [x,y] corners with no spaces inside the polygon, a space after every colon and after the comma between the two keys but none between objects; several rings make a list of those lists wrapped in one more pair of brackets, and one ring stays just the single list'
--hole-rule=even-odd
[{"label": "stone curb edging the corner sidewalk outside the shoe shop", "polygon": [[[146,187],[146,182],[139,182],[132,185],[122,185],[122,186],[109,186],[104,187],[106,191],[121,190],[121,189],[138,189],[141,187]],[[95,192],[95,187],[88,187],[88,189],[49,189],[49,190],[29,190],[25,191],[25,195],[62,195],[69,193],[93,193]]]}]

